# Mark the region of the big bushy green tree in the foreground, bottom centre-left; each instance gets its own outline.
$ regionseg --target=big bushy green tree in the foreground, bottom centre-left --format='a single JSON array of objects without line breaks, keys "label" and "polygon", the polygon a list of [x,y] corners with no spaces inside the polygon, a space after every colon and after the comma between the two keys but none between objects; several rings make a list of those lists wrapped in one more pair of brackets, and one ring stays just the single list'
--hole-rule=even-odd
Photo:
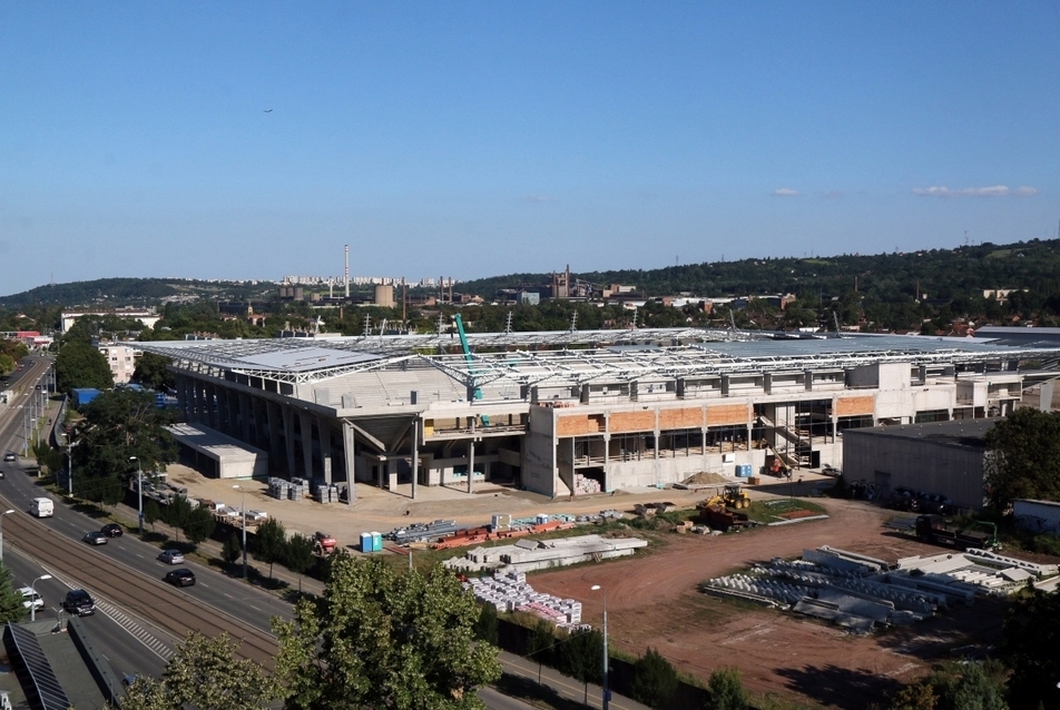
[{"label": "big bushy green tree in the foreground, bottom centre-left", "polygon": [[479,609],[457,576],[402,573],[382,560],[332,555],[324,595],[273,619],[287,710],[468,710],[500,678],[498,650],[475,642]]}]

